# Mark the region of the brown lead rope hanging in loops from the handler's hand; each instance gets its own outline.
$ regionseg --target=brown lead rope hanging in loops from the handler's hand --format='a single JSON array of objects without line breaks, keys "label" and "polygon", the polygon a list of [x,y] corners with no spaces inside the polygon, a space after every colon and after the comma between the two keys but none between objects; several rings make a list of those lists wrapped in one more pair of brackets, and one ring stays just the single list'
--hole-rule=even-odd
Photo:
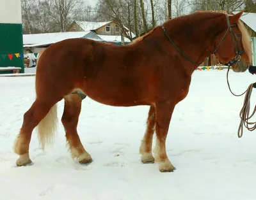
[{"label": "brown lead rope hanging in loops from the handler's hand", "polygon": [[[228,66],[228,71],[230,69],[230,66]],[[256,88],[256,83],[251,83],[248,87],[247,90],[245,90],[243,92],[243,94],[234,94],[231,89],[230,89],[230,85],[228,82],[228,71],[227,71],[227,83],[228,83],[228,89],[230,90],[230,92],[234,95],[234,96],[242,96],[243,94],[245,94],[244,96],[244,104],[243,104],[243,108],[240,111],[239,117],[241,118],[240,120],[240,124],[239,124],[239,128],[237,131],[237,136],[238,138],[241,138],[243,136],[243,125],[244,127],[246,127],[246,129],[248,129],[248,131],[254,131],[256,129],[256,122],[248,122],[248,120],[250,118],[253,117],[253,115],[256,112],[256,105],[254,107],[254,110],[252,112],[252,115],[250,115],[250,98],[251,98],[251,94],[252,94],[252,89],[253,87]],[[251,127],[249,127],[249,125],[252,125]]]}]

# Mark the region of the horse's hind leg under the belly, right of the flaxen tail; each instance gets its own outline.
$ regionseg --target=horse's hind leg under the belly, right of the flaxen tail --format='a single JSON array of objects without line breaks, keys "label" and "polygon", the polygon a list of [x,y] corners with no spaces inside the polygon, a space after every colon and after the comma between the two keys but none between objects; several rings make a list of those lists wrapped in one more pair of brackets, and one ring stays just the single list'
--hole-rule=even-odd
[{"label": "horse's hind leg under the belly, right of the flaxen tail", "polygon": [[77,157],[81,164],[90,163],[92,162],[92,157],[86,150],[84,150],[77,134],[77,124],[81,112],[82,98],[76,93],[69,94],[68,96],[65,96],[64,99],[65,107],[61,122],[65,128],[67,145],[70,147],[72,158]]}]

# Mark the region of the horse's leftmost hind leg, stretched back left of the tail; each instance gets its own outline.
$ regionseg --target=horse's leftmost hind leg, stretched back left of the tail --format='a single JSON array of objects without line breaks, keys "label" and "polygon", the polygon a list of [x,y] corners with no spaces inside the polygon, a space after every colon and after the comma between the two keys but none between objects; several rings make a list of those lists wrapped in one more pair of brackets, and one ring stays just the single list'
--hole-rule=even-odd
[{"label": "horse's leftmost hind leg, stretched back left of the tail", "polygon": [[56,103],[57,102],[45,103],[44,101],[36,99],[31,108],[24,113],[23,124],[13,146],[14,152],[20,155],[19,159],[16,161],[17,166],[26,166],[27,164],[31,164],[31,160],[29,158],[29,143],[32,131],[50,110],[54,110],[54,108],[56,108]]}]

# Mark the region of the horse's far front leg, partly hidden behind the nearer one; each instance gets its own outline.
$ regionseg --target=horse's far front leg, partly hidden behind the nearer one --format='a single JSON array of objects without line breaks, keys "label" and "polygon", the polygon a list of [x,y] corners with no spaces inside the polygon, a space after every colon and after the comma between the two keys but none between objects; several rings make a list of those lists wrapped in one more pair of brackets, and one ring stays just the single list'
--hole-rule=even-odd
[{"label": "horse's far front leg, partly hidden behind the nearer one", "polygon": [[156,124],[156,110],[154,106],[150,106],[147,118],[147,130],[140,145],[141,162],[154,163],[155,159],[152,155],[152,139]]}]

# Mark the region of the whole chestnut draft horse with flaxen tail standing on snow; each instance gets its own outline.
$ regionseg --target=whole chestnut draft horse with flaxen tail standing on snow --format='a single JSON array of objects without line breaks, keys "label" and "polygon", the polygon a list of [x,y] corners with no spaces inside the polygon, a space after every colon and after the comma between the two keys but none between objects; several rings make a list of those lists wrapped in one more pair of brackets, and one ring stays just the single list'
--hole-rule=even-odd
[{"label": "whole chestnut draft horse with flaxen tail standing on snow", "polygon": [[242,13],[197,11],[168,20],[126,46],[83,38],[49,46],[37,65],[36,99],[24,114],[15,141],[14,150],[20,156],[17,166],[32,164],[29,143],[36,126],[43,149],[53,142],[58,124],[56,104],[61,99],[65,99],[61,122],[72,157],[81,164],[92,162],[77,134],[81,102],[88,96],[110,106],[150,106],[141,161],[157,162],[162,172],[173,171],[165,141],[173,110],[187,96],[193,71],[211,54],[236,72],[246,71],[252,62]]}]

